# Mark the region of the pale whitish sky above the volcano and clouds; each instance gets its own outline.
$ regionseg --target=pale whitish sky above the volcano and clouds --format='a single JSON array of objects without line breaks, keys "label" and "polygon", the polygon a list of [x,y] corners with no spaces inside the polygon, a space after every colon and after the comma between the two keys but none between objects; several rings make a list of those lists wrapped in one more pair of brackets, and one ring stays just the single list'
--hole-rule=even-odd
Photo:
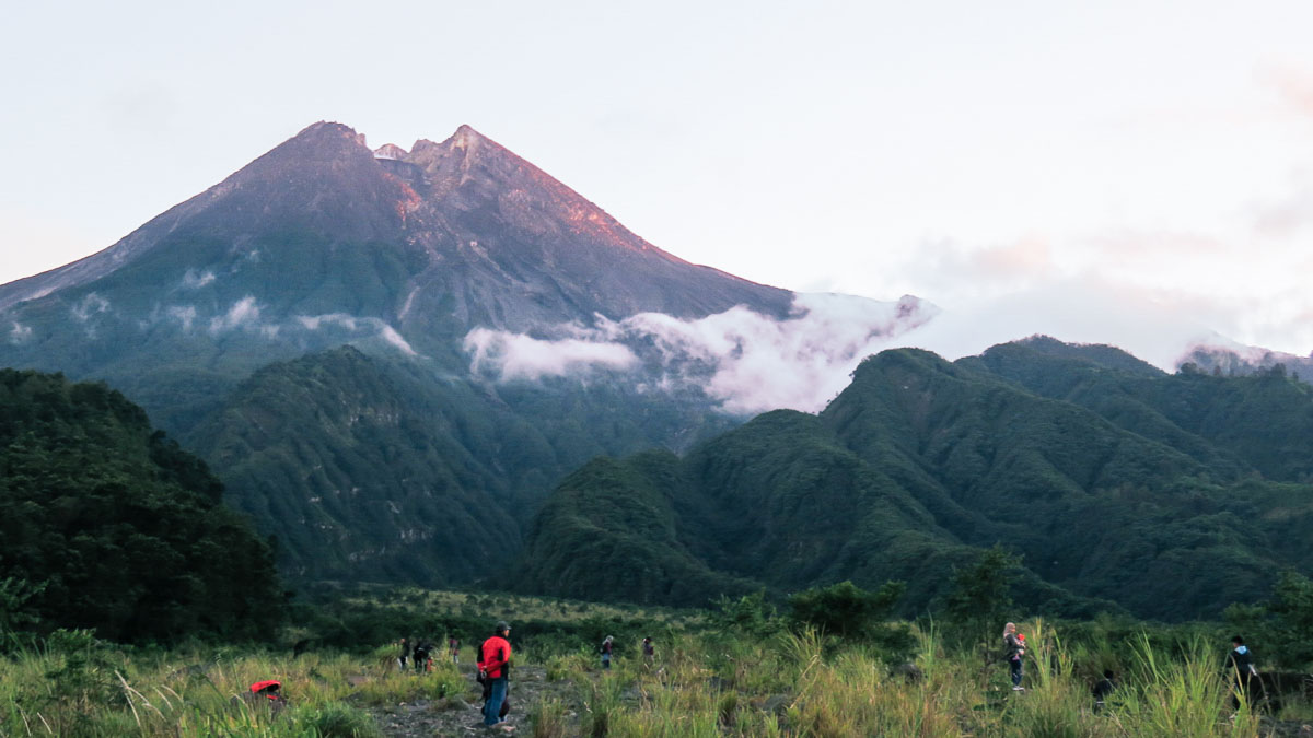
[{"label": "pale whitish sky above the volcano and clouds", "polygon": [[315,121],[376,147],[469,123],[755,281],[1018,335],[1148,306],[1308,355],[1313,3],[1075,5],[14,4],[0,282]]}]

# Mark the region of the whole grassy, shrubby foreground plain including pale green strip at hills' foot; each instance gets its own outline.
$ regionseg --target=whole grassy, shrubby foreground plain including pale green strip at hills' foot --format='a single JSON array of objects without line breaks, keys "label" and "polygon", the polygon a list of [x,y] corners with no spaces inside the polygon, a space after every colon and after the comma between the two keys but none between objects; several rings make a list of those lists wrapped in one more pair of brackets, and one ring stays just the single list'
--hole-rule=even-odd
[{"label": "whole grassy, shrubby foreground plain including pale green strip at hills' foot", "polygon": [[[456,617],[478,603],[500,608],[490,616],[506,609],[524,619],[512,630],[511,721],[519,734],[537,737],[1259,737],[1299,734],[1313,720],[1313,706],[1297,695],[1233,705],[1221,624],[1020,621],[1031,651],[1027,689],[1014,692],[995,628],[884,621],[895,586],[876,594],[848,584],[814,590],[783,613],[759,595],[722,600],[701,617],[498,595],[390,595],[374,605],[398,617],[432,617],[427,608]],[[557,629],[544,626],[549,616]],[[625,629],[614,633],[614,668],[603,671],[587,633],[611,626]],[[656,658],[647,663],[638,641],[651,633]],[[465,643],[462,663],[437,659],[423,675],[398,670],[395,645],[386,641],[294,657],[270,647],[116,646],[76,630],[41,640],[11,634],[0,659],[0,734],[469,734],[478,722],[470,663],[482,633],[450,634]],[[1275,654],[1260,643],[1255,650],[1260,668],[1275,666]],[[1103,670],[1116,674],[1117,688],[1096,710],[1090,689]],[[263,679],[282,682],[288,709],[276,713],[246,697]],[[402,731],[385,720],[395,709],[432,722],[424,733]]]}]

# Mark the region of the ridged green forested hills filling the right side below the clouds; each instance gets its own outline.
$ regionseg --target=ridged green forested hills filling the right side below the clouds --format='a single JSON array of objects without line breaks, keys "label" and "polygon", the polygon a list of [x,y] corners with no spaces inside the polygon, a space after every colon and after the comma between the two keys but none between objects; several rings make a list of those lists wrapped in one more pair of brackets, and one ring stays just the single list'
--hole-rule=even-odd
[{"label": "ridged green forested hills filling the right side below the clouds", "polygon": [[889,351],[819,416],[592,462],[534,521],[516,582],[693,603],[726,582],[902,579],[916,611],[1001,542],[1037,612],[1215,616],[1313,566],[1310,418],[1313,390],[1275,372],[1167,376],[1044,340],[958,362]]}]

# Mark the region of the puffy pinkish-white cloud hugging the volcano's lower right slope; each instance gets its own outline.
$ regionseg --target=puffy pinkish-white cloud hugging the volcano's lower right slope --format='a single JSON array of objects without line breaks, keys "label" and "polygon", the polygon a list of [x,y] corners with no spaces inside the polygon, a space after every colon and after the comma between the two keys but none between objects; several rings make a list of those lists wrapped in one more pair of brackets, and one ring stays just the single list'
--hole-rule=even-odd
[{"label": "puffy pinkish-white cloud hugging the volcano's lower right slope", "polygon": [[857,362],[935,314],[913,297],[798,294],[785,320],[746,307],[692,320],[641,313],[557,326],[544,337],[475,328],[465,349],[471,369],[496,381],[642,370],[635,381],[700,386],[731,414],[818,411],[847,386]]}]

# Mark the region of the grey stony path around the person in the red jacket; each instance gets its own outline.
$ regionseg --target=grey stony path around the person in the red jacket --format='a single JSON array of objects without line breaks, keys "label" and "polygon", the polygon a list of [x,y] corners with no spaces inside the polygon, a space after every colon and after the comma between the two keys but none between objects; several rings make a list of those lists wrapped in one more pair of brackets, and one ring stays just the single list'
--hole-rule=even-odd
[{"label": "grey stony path around the person in the red jacket", "polygon": [[[373,708],[370,714],[378,721],[383,735],[398,738],[432,738],[436,735],[484,735],[491,734],[483,726],[482,689],[474,682],[474,672],[462,667],[461,672],[469,680],[469,691],[463,695],[442,700],[421,700],[412,704]],[[546,699],[557,699],[567,705],[567,710],[578,713],[575,691],[570,682],[548,682],[541,666],[516,667],[511,674],[511,712],[507,721],[516,727],[515,735],[527,735],[529,710]]]}]

